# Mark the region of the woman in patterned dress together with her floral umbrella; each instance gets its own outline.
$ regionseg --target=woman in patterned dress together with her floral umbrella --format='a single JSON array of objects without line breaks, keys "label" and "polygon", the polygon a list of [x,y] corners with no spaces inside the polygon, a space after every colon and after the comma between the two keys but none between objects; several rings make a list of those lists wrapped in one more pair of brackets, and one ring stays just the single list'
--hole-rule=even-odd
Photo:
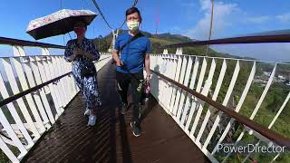
[{"label": "woman in patterned dress together with her floral umbrella", "polygon": [[32,20],[26,29],[26,33],[35,40],[66,34],[74,31],[77,39],[70,40],[66,44],[64,59],[73,62],[73,78],[82,91],[83,100],[86,103],[85,115],[90,115],[88,126],[94,126],[96,122],[96,110],[101,106],[100,91],[97,83],[97,71],[92,61],[100,59],[97,46],[85,38],[87,25],[97,16],[90,10],[63,9]]}]

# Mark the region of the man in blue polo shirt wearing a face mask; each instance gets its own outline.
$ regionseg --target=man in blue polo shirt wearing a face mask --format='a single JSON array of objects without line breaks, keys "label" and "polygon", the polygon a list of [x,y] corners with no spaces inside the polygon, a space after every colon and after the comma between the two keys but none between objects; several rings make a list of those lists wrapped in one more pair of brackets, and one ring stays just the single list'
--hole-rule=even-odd
[{"label": "man in blue polo shirt wearing a face mask", "polygon": [[117,37],[112,57],[116,62],[116,79],[121,96],[121,113],[128,108],[127,91],[131,84],[133,111],[131,127],[134,136],[140,136],[140,102],[144,89],[143,67],[150,80],[150,40],[140,34],[139,26],[142,21],[140,11],[131,7],[126,11],[126,21],[129,32]]}]

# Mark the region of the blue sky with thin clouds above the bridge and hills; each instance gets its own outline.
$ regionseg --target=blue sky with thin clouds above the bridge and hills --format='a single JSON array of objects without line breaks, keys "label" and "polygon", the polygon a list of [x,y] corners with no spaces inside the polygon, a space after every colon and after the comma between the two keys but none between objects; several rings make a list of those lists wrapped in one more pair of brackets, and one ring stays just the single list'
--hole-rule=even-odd
[{"label": "blue sky with thin clouds above the bridge and hills", "polygon": [[[96,0],[111,26],[119,28],[125,10],[133,0]],[[139,0],[137,7],[143,17],[140,29],[155,33],[182,34],[192,39],[208,39],[210,0]],[[0,5],[0,36],[34,41],[25,33],[28,23],[60,9],[89,9],[98,14],[91,0],[3,0]],[[285,30],[290,28],[289,0],[215,0],[212,39]],[[126,29],[126,25],[123,26]],[[87,37],[111,33],[98,15],[88,27]],[[73,37],[75,34],[71,33]],[[39,40],[43,43],[65,44],[68,34]],[[253,57],[272,62],[290,61],[290,43],[258,43],[214,45],[222,53]],[[39,49],[25,48],[27,53],[40,54]],[[53,53],[53,52],[52,52]],[[60,53],[60,52],[54,52]],[[10,46],[0,45],[0,56],[12,54]]]}]

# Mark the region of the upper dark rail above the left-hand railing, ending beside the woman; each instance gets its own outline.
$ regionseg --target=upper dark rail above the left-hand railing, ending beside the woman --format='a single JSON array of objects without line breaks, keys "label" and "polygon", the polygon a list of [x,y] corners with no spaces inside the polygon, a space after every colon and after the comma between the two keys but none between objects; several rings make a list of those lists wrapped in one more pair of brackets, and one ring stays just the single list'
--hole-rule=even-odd
[{"label": "upper dark rail above the left-hand railing, ending beside the woman", "polygon": [[51,43],[39,43],[39,42],[30,42],[25,40],[18,40],[14,38],[0,37],[0,44],[8,44],[8,45],[18,45],[18,46],[38,46],[43,48],[57,48],[64,49],[65,46],[51,44]]}]

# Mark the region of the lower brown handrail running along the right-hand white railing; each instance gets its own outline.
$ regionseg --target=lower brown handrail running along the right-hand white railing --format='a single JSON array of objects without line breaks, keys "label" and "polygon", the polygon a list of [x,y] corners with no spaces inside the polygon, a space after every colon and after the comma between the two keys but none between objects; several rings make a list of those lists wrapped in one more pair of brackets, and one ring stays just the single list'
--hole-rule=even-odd
[{"label": "lower brown handrail running along the right-hand white railing", "polygon": [[179,88],[181,88],[185,91],[188,91],[190,94],[196,96],[198,99],[205,101],[208,104],[210,104],[211,106],[215,107],[216,109],[226,113],[227,116],[234,118],[235,120],[246,125],[250,129],[256,130],[258,133],[260,133],[261,135],[263,135],[267,139],[275,141],[276,144],[281,145],[281,146],[290,147],[290,139],[287,139],[287,138],[275,133],[271,129],[267,129],[266,127],[256,123],[253,120],[249,120],[247,117],[238,114],[235,110],[231,110],[231,109],[223,106],[222,104],[219,104],[217,101],[213,101],[211,99],[208,99],[208,97],[198,93],[197,91],[193,91],[193,90],[189,89],[187,86],[180,84],[179,82],[173,81],[169,77],[167,77],[163,74],[160,74],[159,72],[155,72],[153,70],[150,70],[150,72],[153,72],[156,75],[160,76],[162,79],[177,85]]}]

